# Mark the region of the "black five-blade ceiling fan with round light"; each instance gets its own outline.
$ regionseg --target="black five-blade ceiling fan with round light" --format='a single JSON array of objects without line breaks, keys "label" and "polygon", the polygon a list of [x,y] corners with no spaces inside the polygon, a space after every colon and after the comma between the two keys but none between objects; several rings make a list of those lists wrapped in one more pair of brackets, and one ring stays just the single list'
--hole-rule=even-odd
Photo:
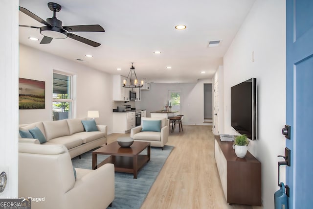
[{"label": "black five-blade ceiling fan with round light", "polygon": [[99,24],[91,24],[91,25],[71,25],[71,26],[62,26],[62,21],[58,20],[55,16],[56,12],[61,10],[61,5],[53,2],[48,3],[48,7],[51,11],[53,11],[53,17],[47,18],[46,21],[35,15],[34,13],[28,11],[27,9],[20,6],[20,11],[29,17],[35,19],[39,23],[43,23],[45,26],[37,27],[37,26],[29,26],[29,25],[19,25],[21,27],[30,27],[30,28],[39,28],[40,33],[44,35],[44,38],[41,40],[40,44],[50,44],[52,39],[65,39],[71,38],[76,41],[85,43],[87,45],[97,47],[101,44],[86,39],[84,37],[75,35],[70,32],[78,32],[78,31],[86,31],[86,32],[104,32],[103,27]]}]

